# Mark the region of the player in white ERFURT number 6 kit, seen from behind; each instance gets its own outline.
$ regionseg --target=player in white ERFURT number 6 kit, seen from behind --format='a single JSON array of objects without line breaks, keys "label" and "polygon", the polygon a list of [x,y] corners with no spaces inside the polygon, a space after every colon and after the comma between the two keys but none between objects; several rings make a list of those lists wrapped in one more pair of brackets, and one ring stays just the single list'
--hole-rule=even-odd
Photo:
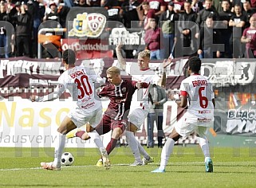
[{"label": "player in white ERFURT number 6 kit, seen from behind", "polygon": [[181,82],[181,100],[176,101],[179,107],[185,108],[188,100],[189,105],[187,112],[179,120],[179,123],[175,124],[175,127],[171,131],[171,135],[169,135],[169,138],[164,144],[160,167],[152,172],[165,172],[165,166],[168,163],[175,141],[177,141],[179,137],[191,135],[193,132],[195,132],[199,138],[199,145],[205,156],[206,171],[213,172],[207,130],[214,121],[214,92],[212,91],[212,86],[209,80],[207,80],[206,77],[199,75],[201,69],[201,60],[199,57],[191,57],[187,63],[190,76]]}]

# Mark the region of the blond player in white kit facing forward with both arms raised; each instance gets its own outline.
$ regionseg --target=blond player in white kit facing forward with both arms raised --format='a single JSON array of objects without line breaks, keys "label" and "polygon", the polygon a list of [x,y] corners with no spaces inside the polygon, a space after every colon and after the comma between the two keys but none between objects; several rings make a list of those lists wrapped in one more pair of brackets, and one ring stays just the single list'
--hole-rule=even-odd
[{"label": "blond player in white kit facing forward with both arms raised", "polygon": [[[165,86],[166,84],[166,73],[165,68],[167,65],[171,64],[171,59],[163,61],[163,76],[157,76],[156,73],[149,68],[149,60],[150,60],[150,51],[144,50],[139,53],[138,63],[133,64],[135,66],[128,67],[122,57],[121,54],[122,43],[120,42],[116,45],[116,56],[120,63],[120,68],[124,69],[129,75],[132,76],[132,80],[138,82],[144,82],[148,84],[160,84],[161,86]],[[140,88],[136,90],[136,92],[132,96],[132,104],[130,108],[130,112],[128,115],[128,126],[124,135],[126,136],[126,140],[128,142],[129,147],[131,147],[132,153],[135,157],[135,162],[132,163],[131,166],[140,166],[153,162],[152,157],[148,157],[148,153],[144,150],[144,148],[140,145],[139,141],[136,140],[134,134],[137,130],[140,129],[140,126],[144,123],[144,120],[148,116],[149,105],[148,105],[148,92],[150,92],[151,87],[148,88]],[[144,156],[144,159],[140,158],[140,154]]]}]

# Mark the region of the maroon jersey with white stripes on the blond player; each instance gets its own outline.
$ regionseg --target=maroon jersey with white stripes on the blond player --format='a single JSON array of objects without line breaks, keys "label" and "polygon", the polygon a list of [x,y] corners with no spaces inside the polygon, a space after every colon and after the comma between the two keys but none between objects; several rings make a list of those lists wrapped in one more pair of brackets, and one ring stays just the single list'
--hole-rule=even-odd
[{"label": "maroon jersey with white stripes on the blond player", "polygon": [[100,97],[107,96],[110,100],[105,114],[116,120],[126,119],[136,88],[136,81],[132,80],[123,80],[118,86],[106,85],[99,93]]}]

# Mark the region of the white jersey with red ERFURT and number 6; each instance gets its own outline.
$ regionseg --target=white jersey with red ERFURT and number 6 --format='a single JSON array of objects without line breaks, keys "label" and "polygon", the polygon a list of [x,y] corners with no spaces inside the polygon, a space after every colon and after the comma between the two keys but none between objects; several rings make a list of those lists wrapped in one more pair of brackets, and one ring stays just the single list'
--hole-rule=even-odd
[{"label": "white jersey with red ERFURT and number 6", "polygon": [[189,106],[185,115],[188,123],[208,123],[214,120],[215,95],[206,77],[195,74],[187,77],[180,85],[181,96],[187,96]]}]

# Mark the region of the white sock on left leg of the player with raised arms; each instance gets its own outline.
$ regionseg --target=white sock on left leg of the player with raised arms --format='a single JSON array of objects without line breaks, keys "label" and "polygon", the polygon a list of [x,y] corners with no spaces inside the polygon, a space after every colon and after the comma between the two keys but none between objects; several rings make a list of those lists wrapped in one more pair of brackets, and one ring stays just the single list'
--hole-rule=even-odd
[{"label": "white sock on left leg of the player with raised arms", "polygon": [[132,150],[132,154],[134,155],[134,158],[137,162],[142,163],[142,160],[140,158],[140,151],[138,147],[138,142],[133,135],[133,132],[131,131],[124,131],[124,135],[126,136],[126,141],[129,144],[129,147]]}]

